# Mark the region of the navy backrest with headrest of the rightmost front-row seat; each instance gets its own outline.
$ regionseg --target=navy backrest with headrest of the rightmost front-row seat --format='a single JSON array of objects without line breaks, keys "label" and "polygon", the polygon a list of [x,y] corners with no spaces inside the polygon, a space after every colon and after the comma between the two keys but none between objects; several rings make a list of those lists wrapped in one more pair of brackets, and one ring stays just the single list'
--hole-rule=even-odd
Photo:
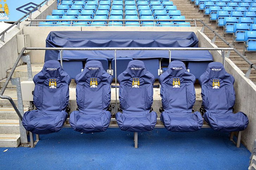
[{"label": "navy backrest with headrest of the rightmost front-row seat", "polygon": [[232,112],[236,99],[234,82],[234,77],[225,71],[222,63],[209,63],[199,78],[204,109],[213,113]]}]

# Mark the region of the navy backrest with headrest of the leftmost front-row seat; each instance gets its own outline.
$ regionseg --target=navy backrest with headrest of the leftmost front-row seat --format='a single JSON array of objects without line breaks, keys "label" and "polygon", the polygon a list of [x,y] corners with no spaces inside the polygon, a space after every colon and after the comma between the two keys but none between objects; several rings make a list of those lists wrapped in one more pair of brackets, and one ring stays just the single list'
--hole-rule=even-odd
[{"label": "navy backrest with headrest of the leftmost front-row seat", "polygon": [[69,102],[71,79],[58,61],[45,62],[43,69],[34,76],[34,105],[40,111],[55,115],[66,109]]}]

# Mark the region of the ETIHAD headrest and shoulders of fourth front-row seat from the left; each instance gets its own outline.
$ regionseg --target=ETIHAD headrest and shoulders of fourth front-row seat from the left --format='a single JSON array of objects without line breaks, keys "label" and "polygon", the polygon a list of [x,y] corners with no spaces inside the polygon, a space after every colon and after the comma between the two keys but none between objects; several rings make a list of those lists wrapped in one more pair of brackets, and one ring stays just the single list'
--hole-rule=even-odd
[{"label": "ETIHAD headrest and shoulders of fourth front-row seat from the left", "polygon": [[186,66],[181,61],[172,61],[169,63],[167,70],[160,75],[159,82],[165,83],[169,77],[182,77],[185,81],[196,81],[196,77],[189,73]]}]

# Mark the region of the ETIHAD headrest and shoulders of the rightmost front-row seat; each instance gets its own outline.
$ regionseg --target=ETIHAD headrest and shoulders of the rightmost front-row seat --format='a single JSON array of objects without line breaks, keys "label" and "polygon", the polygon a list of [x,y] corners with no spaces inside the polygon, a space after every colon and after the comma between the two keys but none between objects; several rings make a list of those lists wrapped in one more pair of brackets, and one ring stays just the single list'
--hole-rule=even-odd
[{"label": "ETIHAD headrest and shoulders of the rightmost front-row seat", "polygon": [[201,84],[206,83],[211,78],[220,78],[232,84],[235,82],[233,76],[226,72],[223,64],[220,62],[209,63],[205,72],[200,76],[199,82]]}]

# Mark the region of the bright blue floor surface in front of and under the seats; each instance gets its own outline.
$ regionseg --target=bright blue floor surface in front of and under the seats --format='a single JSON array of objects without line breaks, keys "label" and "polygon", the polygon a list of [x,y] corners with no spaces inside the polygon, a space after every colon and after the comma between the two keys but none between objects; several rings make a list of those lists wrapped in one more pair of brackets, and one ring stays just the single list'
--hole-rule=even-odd
[{"label": "bright blue floor surface in front of and under the seats", "polygon": [[[71,128],[40,135],[35,148],[0,148],[0,169],[225,169],[246,170],[250,152],[229,134],[201,129],[176,133],[164,128],[133,133],[118,128],[81,134]],[[5,149],[8,151],[3,152]]]}]

